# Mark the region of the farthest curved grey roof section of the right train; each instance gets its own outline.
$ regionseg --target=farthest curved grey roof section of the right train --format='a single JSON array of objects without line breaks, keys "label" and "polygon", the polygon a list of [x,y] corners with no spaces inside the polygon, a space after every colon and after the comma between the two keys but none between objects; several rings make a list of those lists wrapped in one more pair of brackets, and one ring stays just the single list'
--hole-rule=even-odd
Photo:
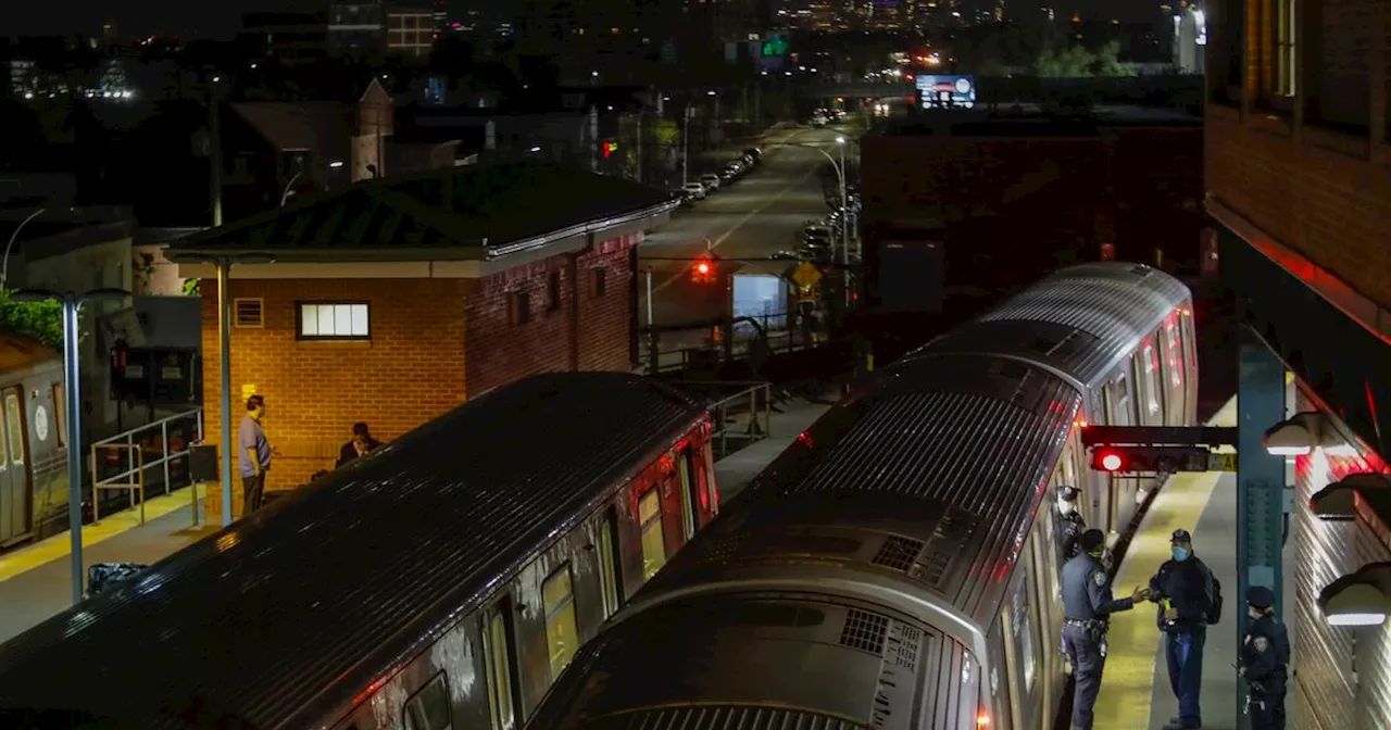
[{"label": "farthest curved grey roof section of the right train", "polygon": [[1056,368],[1093,388],[1189,296],[1181,281],[1143,264],[1072,266],[908,357],[990,352]]}]

